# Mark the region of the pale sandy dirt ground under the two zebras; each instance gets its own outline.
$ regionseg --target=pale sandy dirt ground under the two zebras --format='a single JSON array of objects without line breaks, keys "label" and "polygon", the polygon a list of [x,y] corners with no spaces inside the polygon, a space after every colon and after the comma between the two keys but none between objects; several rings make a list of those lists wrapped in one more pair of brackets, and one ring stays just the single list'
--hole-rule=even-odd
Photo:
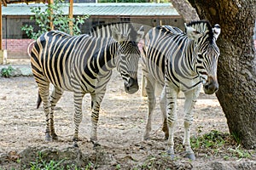
[{"label": "pale sandy dirt ground under the two zebras", "polygon": [[[59,139],[45,142],[44,112],[41,107],[36,109],[38,88],[33,77],[0,77],[0,88],[0,169],[29,168],[29,162],[35,161],[42,150],[49,159],[65,158],[69,160],[66,165],[77,164],[84,169],[256,169],[255,155],[243,159],[227,155],[227,150],[236,149],[231,143],[215,150],[195,150],[195,161],[184,158],[182,97],[178,99],[175,132],[177,159],[171,161],[165,154],[167,141],[161,131],[160,105],[155,108],[150,139],[143,141],[147,99],[142,97],[141,89],[136,94],[125,94],[115,70],[102,102],[98,123],[100,146],[96,148],[90,143],[90,95],[84,97],[84,117],[79,128],[81,141],[79,149],[74,149],[72,93],[64,93],[55,110]],[[215,95],[201,94],[195,105],[191,136],[198,137],[212,130],[229,132],[218,99]]]}]

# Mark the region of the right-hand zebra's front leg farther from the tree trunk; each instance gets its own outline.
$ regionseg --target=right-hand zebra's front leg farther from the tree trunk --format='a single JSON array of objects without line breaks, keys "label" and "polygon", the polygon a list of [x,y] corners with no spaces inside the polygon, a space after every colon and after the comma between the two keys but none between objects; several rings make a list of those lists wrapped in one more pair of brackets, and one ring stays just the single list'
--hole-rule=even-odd
[{"label": "right-hand zebra's front leg farther from the tree trunk", "polygon": [[166,85],[166,113],[167,113],[167,122],[169,127],[169,139],[168,144],[170,146],[170,150],[168,150],[168,154],[170,154],[171,159],[174,159],[174,127],[177,122],[177,90],[172,87]]}]

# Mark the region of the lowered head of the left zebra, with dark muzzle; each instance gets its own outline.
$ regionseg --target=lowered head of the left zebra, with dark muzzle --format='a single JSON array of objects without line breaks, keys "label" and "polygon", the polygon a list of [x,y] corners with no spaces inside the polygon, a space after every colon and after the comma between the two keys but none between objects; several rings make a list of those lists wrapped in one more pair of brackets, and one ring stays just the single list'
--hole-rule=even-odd
[{"label": "lowered head of the left zebra, with dark muzzle", "polygon": [[115,57],[116,67],[125,81],[125,92],[128,94],[136,93],[139,88],[137,69],[141,54],[138,42],[143,38],[143,35],[143,26],[138,31],[132,27],[125,32],[115,26],[112,27],[112,37],[119,43]]}]

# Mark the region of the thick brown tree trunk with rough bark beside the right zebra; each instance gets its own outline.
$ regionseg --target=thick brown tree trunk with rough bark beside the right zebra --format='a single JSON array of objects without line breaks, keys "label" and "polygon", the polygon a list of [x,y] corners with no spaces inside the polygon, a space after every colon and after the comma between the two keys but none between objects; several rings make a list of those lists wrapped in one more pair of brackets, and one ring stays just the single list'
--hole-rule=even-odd
[{"label": "thick brown tree trunk with rough bark beside the right zebra", "polygon": [[230,133],[256,149],[256,0],[189,0],[201,20],[221,26],[217,98]]}]

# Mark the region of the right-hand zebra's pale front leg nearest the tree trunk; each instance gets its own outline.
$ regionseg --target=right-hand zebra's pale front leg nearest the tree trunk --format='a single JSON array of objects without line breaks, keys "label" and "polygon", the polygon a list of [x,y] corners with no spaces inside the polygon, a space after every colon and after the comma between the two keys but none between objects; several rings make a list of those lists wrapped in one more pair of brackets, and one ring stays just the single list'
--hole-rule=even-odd
[{"label": "right-hand zebra's pale front leg nearest the tree trunk", "polygon": [[190,146],[190,127],[193,122],[193,108],[195,106],[196,99],[198,98],[200,94],[201,87],[195,88],[189,92],[185,93],[185,105],[184,105],[184,139],[183,139],[183,145],[185,146],[186,150],[186,157],[188,157],[190,160],[195,160],[195,154],[194,151],[191,149]]}]

